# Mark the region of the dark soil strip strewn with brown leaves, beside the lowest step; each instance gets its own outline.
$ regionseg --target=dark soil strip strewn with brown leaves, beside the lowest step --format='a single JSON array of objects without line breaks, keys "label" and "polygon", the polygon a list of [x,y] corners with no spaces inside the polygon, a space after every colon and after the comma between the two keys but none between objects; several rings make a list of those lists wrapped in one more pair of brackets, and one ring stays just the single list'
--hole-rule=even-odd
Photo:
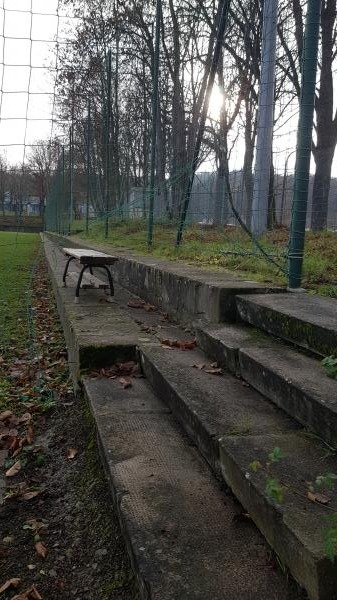
[{"label": "dark soil strip strewn with brown leaves, beside the lowest step", "polygon": [[[136,600],[94,425],[84,399],[72,392],[47,282],[41,263],[33,339],[19,354],[13,345],[0,357],[0,378],[7,374],[11,382],[5,408],[13,413],[7,420],[0,414],[0,591],[20,580],[1,599]],[[20,471],[9,476],[18,462]]]}]

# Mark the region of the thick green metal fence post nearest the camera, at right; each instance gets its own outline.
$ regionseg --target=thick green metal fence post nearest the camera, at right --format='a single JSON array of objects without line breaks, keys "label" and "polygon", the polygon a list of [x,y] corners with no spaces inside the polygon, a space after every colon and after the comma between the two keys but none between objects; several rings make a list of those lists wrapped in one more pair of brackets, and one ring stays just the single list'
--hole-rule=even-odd
[{"label": "thick green metal fence post nearest the camera, at right", "polygon": [[321,0],[308,0],[305,22],[300,117],[297,130],[293,216],[289,252],[289,289],[301,287],[314,121]]}]

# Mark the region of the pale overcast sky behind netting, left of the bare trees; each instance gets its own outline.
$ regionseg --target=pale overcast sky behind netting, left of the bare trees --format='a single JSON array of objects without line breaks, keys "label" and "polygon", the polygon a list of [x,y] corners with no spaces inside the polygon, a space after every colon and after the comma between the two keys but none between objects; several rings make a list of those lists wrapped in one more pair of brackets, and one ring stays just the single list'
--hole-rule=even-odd
[{"label": "pale overcast sky behind netting, left of the bare trees", "polygon": [[57,0],[1,0],[0,152],[9,163],[22,163],[29,145],[52,133],[48,66],[55,67],[56,39],[62,43],[69,22],[57,16],[57,7]]}]

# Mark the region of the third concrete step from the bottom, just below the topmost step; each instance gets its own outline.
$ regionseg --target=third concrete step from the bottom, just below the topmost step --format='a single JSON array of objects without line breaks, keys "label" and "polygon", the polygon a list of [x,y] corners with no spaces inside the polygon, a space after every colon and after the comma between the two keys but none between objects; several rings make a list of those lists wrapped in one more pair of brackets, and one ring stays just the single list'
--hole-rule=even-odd
[{"label": "third concrete step from the bottom, just below the topmost step", "polygon": [[196,335],[213,360],[337,447],[337,381],[318,360],[247,326],[203,326]]}]

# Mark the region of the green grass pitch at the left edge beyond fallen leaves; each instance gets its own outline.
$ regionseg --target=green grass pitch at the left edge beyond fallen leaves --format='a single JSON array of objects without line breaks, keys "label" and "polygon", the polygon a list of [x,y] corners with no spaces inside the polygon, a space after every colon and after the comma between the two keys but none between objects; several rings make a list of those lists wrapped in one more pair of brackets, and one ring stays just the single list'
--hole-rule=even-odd
[{"label": "green grass pitch at the left edge beyond fallen leaves", "polygon": [[0,231],[0,354],[27,342],[27,304],[40,244],[38,234]]}]

